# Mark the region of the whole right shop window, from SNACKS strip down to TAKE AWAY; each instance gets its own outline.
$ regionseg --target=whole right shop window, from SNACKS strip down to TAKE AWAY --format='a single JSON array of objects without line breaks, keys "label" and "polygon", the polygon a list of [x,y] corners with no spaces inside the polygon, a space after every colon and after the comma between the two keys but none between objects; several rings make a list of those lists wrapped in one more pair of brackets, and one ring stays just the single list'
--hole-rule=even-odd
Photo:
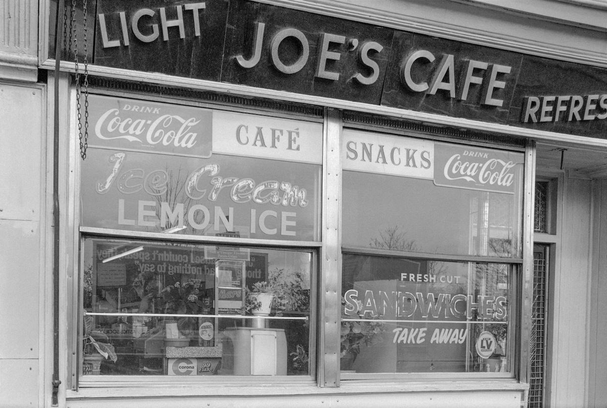
[{"label": "whole right shop window, from SNACKS strip down to TAKE AWAY", "polygon": [[342,146],[344,378],[512,376],[524,155],[352,129]]}]

